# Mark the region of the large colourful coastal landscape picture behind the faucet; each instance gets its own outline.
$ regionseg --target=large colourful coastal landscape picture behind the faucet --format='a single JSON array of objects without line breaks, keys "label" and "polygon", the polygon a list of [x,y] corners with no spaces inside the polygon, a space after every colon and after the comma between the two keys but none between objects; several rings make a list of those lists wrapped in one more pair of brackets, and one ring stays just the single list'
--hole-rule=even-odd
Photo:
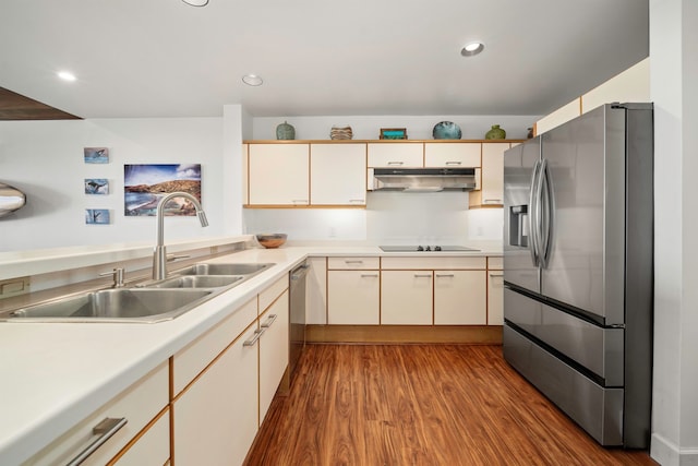
[{"label": "large colourful coastal landscape picture behind the faucet", "polygon": [[[134,164],[123,166],[125,216],[154,216],[163,198],[185,192],[201,202],[201,164]],[[165,215],[194,216],[196,208],[185,198],[173,198]]]}]

